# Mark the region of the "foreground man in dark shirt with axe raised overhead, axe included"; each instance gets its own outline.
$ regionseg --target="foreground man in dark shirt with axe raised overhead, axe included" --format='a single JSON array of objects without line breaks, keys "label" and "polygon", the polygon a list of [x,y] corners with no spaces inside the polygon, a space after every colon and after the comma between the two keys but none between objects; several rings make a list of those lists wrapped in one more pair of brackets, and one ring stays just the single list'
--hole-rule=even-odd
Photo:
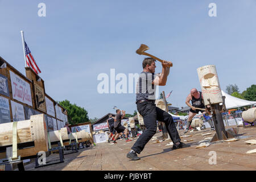
[{"label": "foreground man in dark shirt with axe raised overhead, axe included", "polygon": [[[146,45],[142,44],[142,46]],[[146,46],[146,49],[145,47],[141,48],[137,50],[137,53],[144,55],[144,51],[146,51],[148,47]],[[147,55],[149,54],[147,53]],[[136,88],[137,110],[143,117],[146,130],[144,130],[141,137],[137,139],[133,147],[131,147],[131,151],[127,154],[127,158],[130,158],[132,160],[140,159],[137,154],[140,154],[142,152],[144,146],[156,133],[156,120],[162,121],[166,124],[168,134],[170,135],[171,140],[174,143],[172,150],[175,150],[177,148],[189,147],[188,144],[181,142],[172,116],[166,111],[160,109],[159,107],[156,107],[155,105],[155,85],[166,85],[167,76],[169,75],[172,63],[171,61],[161,60],[162,73],[158,73],[155,75],[156,60],[152,58],[154,56],[150,56],[151,57],[147,57],[143,60],[143,71],[139,76]]]}]

